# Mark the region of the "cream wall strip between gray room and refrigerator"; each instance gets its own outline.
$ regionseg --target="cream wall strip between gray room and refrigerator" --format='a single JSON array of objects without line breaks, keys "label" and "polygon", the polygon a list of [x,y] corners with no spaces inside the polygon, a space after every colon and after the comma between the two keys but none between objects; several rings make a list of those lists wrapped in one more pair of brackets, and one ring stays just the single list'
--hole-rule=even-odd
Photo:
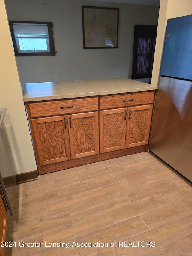
[{"label": "cream wall strip between gray room and refrigerator", "polygon": [[152,84],[158,85],[167,20],[190,14],[192,14],[191,0],[161,0],[152,72]]}]

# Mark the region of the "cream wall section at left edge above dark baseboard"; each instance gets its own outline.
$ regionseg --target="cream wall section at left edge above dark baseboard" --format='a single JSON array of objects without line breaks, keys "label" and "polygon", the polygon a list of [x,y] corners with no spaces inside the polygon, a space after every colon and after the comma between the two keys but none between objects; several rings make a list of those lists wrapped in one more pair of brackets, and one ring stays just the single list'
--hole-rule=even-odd
[{"label": "cream wall section at left edge above dark baseboard", "polygon": [[[17,173],[37,170],[4,0],[0,0],[0,108]],[[2,37],[3,35],[3,37]]]}]

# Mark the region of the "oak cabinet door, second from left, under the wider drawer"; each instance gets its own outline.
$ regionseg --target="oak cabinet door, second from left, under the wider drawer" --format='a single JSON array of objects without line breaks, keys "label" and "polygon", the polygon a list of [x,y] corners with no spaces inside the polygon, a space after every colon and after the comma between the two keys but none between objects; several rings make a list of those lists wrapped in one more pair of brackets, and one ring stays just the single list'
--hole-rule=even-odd
[{"label": "oak cabinet door, second from left, under the wider drawer", "polygon": [[71,158],[99,153],[98,112],[68,115]]}]

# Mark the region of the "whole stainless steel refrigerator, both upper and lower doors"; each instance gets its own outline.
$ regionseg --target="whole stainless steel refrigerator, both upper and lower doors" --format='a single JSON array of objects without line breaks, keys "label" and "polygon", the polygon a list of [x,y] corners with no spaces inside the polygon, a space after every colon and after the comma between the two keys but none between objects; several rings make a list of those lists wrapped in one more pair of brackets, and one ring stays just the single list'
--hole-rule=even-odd
[{"label": "whole stainless steel refrigerator, both upper and lower doors", "polygon": [[192,15],[167,22],[149,150],[192,181]]}]

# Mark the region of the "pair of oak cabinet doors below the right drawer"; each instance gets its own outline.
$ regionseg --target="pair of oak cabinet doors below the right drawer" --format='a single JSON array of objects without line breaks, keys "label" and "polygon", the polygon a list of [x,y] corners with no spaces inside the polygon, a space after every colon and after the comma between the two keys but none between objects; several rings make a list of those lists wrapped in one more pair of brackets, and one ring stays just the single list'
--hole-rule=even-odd
[{"label": "pair of oak cabinet doors below the right drawer", "polygon": [[153,105],[100,111],[100,153],[146,145]]}]

